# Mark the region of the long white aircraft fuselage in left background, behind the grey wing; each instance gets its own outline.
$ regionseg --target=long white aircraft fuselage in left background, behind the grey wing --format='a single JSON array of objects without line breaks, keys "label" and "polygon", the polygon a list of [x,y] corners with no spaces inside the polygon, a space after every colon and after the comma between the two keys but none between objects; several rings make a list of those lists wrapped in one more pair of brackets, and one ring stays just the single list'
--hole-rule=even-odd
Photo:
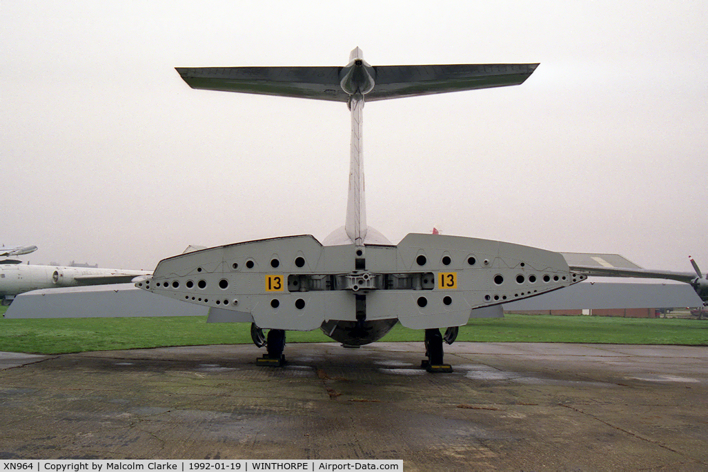
[{"label": "long white aircraft fuselage in left background, behind the grey wing", "polygon": [[0,264],[1,303],[9,305],[16,295],[30,292],[30,290],[120,284],[149,273],[147,270]]}]

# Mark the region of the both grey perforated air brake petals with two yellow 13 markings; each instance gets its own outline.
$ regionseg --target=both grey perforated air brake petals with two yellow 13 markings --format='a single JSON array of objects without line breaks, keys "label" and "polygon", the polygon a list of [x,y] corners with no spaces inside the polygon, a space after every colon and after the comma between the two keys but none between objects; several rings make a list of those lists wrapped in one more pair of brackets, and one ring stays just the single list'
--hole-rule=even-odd
[{"label": "both grey perforated air brake petals with two yellow 13 markings", "polygon": [[422,329],[460,326],[472,309],[585,278],[558,253],[499,241],[409,234],[398,246],[362,248],[322,246],[306,235],[177,255],[137,287],[251,313],[261,328],[313,330],[364,314]]}]

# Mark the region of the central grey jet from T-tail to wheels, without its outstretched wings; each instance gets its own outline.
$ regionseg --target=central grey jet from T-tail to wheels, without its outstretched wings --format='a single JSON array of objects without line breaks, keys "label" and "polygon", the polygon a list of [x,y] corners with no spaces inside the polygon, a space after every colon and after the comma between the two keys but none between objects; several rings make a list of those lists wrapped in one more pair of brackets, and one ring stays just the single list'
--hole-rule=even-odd
[{"label": "central grey jet from T-tail to wheels, without its outstretched wings", "polygon": [[[234,243],[161,260],[136,286],[210,306],[210,320],[250,322],[266,345],[260,364],[284,362],[285,330],[320,328],[346,347],[382,338],[400,322],[425,330],[430,372],[450,372],[452,343],[490,306],[586,279],[559,253],[459,236],[409,234],[397,245],[367,225],[362,155],[365,103],[522,84],[538,64],[371,66],[357,47],[343,67],[178,68],[192,88],[346,103],[351,113],[346,222],[320,243],[287,236]],[[267,338],[263,329],[268,329]],[[445,328],[445,335],[440,332]]]}]

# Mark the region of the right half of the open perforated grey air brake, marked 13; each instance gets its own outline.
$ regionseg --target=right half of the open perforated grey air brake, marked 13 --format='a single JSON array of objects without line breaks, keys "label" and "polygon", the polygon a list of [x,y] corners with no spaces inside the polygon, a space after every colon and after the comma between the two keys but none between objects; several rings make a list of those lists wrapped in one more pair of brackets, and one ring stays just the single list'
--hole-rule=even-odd
[{"label": "right half of the open perforated grey air brake, marked 13", "polygon": [[586,278],[570,272],[559,253],[459,236],[409,234],[396,246],[395,262],[386,260],[393,265],[377,265],[376,271],[420,277],[410,289],[368,294],[367,319],[396,317],[413,329],[462,326],[473,309],[534,297]]}]

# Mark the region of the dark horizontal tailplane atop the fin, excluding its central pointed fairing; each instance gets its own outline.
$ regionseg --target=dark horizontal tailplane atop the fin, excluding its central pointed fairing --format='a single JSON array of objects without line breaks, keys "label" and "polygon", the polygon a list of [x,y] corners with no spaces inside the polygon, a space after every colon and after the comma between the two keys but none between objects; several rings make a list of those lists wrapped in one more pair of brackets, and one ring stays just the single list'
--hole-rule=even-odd
[{"label": "dark horizontal tailplane atop the fin, excluding its central pointed fairing", "polygon": [[[538,64],[373,67],[366,101],[523,84]],[[177,67],[192,88],[346,102],[343,67]]]}]

